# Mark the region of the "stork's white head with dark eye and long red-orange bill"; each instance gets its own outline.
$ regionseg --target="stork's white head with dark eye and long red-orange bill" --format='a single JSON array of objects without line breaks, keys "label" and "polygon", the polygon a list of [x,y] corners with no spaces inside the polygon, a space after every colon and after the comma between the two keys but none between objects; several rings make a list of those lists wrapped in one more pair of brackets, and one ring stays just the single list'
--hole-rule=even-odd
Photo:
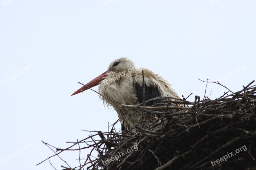
[{"label": "stork's white head with dark eye and long red-orange bill", "polygon": [[[115,72],[115,73],[125,72],[125,73],[128,73],[128,72],[134,71],[136,69],[135,67],[136,66],[134,65],[134,63],[131,60],[129,60],[125,57],[118,58],[118,59],[116,59],[116,60],[114,60],[110,63],[110,65],[108,66],[107,71],[100,74],[98,77],[94,78],[92,81],[87,83],[85,86],[87,86],[89,88],[92,88],[92,87],[98,85],[102,80],[104,80],[107,77],[108,72]],[[78,89],[71,96],[87,90],[88,88],[85,87],[85,86]]]}]

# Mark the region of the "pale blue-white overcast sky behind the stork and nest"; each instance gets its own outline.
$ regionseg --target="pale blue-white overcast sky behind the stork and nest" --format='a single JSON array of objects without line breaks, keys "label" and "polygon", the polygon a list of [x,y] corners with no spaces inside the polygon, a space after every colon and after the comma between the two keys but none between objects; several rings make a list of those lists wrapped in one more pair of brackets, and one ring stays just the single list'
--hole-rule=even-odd
[{"label": "pale blue-white overcast sky behind the stork and nest", "polygon": [[[36,166],[53,154],[41,140],[66,148],[90,135],[81,129],[108,131],[118,117],[98,94],[70,95],[116,58],[161,75],[180,96],[193,92],[189,101],[204,96],[198,78],[232,91],[255,79],[255,0],[0,1],[1,170],[53,169]],[[210,84],[206,95],[224,91]],[[78,152],[60,156],[79,165]]]}]

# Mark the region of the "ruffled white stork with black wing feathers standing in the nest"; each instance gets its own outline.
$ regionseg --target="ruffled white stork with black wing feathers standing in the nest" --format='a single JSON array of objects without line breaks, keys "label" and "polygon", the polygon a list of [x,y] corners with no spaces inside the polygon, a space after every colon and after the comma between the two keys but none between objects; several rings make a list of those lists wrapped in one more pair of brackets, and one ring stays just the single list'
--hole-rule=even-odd
[{"label": "ruffled white stork with black wing feathers standing in the nest", "polygon": [[[131,115],[133,111],[121,107],[119,103],[125,105],[137,105],[142,103],[142,70],[144,70],[146,100],[156,97],[173,97],[180,99],[178,94],[172,89],[171,84],[164,80],[164,78],[151,70],[137,68],[131,60],[125,57],[118,58],[111,62],[107,71],[85,85],[89,88],[99,85],[99,93],[106,97],[100,95],[103,103],[115,109],[120,119],[122,130],[130,130],[137,125],[140,119],[140,115]],[[87,90],[88,88],[85,86],[78,89],[71,96]],[[161,100],[155,102],[162,103]],[[151,105],[154,105],[153,101],[146,103],[145,106]]]}]

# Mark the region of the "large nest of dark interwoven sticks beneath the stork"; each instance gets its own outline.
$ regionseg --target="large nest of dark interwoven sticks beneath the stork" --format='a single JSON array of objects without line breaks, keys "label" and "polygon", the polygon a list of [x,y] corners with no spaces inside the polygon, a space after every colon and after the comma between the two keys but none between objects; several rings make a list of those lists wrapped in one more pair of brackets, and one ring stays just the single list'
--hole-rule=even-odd
[{"label": "large nest of dark interwoven sticks beneath the stork", "polygon": [[[226,92],[216,100],[207,97],[200,100],[195,96],[194,102],[184,98],[175,101],[163,98],[168,103],[166,107],[123,105],[137,113],[141,111],[161,116],[156,116],[147,128],[138,123],[133,132],[121,133],[115,129],[116,123],[109,132],[90,131],[90,137],[74,142],[66,149],[55,148],[55,155],[68,150],[79,150],[79,153],[85,148],[91,150],[84,159],[80,159],[79,154],[77,167],[62,166],[66,170],[85,167],[129,170],[256,169],[256,85],[252,85],[253,82],[241,91],[228,91],[231,94]],[[189,107],[175,107],[178,104]],[[99,139],[96,140],[96,137]],[[95,151],[97,157],[92,155]]]}]

